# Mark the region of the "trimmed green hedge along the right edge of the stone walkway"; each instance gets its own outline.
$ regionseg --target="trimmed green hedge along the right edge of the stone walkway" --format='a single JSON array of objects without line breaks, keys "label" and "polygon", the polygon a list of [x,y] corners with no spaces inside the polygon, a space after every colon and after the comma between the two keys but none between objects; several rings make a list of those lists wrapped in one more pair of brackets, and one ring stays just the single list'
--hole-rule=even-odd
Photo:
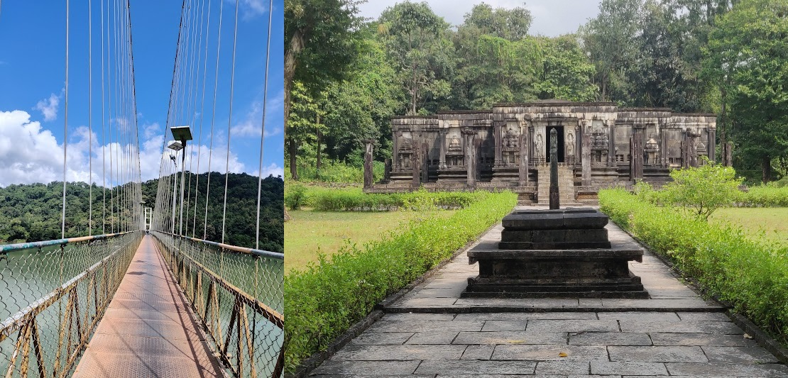
[{"label": "trimmed green hedge along the right edge of the stone walkway", "polygon": [[788,342],[788,247],[750,239],[742,228],[708,224],[621,189],[600,191],[600,208],[712,295]]}]

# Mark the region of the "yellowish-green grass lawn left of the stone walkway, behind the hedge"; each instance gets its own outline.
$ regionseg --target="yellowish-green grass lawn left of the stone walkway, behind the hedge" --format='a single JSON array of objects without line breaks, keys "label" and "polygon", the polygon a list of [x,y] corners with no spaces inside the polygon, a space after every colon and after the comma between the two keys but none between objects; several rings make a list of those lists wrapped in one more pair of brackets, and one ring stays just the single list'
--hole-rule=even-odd
[{"label": "yellowish-green grass lawn left of the stone walkway, behind the hedge", "polygon": [[291,210],[291,220],[284,222],[284,267],[303,269],[307,262],[318,261],[318,249],[333,254],[346,243],[364,243],[381,239],[387,232],[420,216],[440,214],[451,217],[455,210],[431,212],[322,212]]}]

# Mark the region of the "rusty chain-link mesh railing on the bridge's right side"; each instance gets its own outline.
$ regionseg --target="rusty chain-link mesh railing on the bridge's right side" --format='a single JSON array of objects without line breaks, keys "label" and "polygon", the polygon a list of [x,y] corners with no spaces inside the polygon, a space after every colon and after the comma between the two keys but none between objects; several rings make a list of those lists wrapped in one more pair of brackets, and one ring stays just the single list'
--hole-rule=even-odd
[{"label": "rusty chain-link mesh railing on the bridge's right side", "polygon": [[282,376],[284,255],[152,232],[232,376]]}]

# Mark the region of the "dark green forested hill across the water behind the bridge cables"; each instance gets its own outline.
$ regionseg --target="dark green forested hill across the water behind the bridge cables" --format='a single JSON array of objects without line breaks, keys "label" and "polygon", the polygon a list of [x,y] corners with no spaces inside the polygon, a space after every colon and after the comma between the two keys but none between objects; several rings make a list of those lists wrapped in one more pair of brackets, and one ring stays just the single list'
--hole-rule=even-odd
[{"label": "dark green forested hill across the water behind the bridge cables", "polygon": [[[195,193],[197,175],[191,175],[191,199],[187,202],[188,217],[184,215],[184,231],[188,224],[188,235],[192,235],[195,224],[195,194],[197,196],[195,237],[203,237],[205,214],[205,193],[207,173],[199,175],[199,193]],[[187,173],[187,178],[189,174]],[[221,214],[225,195],[225,175],[219,172],[210,174],[210,195],[208,198],[208,221],[206,239],[221,241]],[[158,180],[143,183],[143,200],[146,206],[154,206]],[[227,187],[227,219],[225,222],[225,243],[236,246],[255,246],[255,217],[257,213],[258,177],[246,173],[231,173]],[[87,183],[68,183],[66,185],[66,237],[87,235],[88,209],[90,206],[90,187]],[[102,195],[106,194],[106,218]],[[189,194],[187,181],[186,194]],[[61,203],[63,183],[32,183],[0,187],[0,243],[32,242],[60,239]],[[262,180],[262,199],[260,208],[260,249],[281,252],[284,244],[284,182],[280,177],[269,176]],[[117,228],[117,211],[111,204],[113,193],[93,185],[93,234],[107,233]],[[186,207],[184,206],[184,213]],[[117,231],[117,230],[116,230]]]}]

